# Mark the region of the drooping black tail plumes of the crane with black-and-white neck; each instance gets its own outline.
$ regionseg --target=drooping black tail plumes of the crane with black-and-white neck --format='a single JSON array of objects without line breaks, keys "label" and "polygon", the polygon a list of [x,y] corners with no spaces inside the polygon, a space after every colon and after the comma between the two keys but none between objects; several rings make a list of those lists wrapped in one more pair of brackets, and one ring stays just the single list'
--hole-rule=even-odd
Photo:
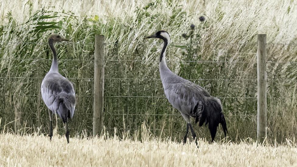
[{"label": "drooping black tail plumes of the crane with black-and-white neck", "polygon": [[226,132],[228,133],[226,120],[222,112],[222,104],[218,98],[207,97],[207,99],[205,99],[203,110],[201,110],[201,113],[197,114],[195,119],[196,123],[198,121],[199,126],[202,126],[204,123],[205,126],[208,124],[212,141],[215,139],[218,124],[222,125],[225,137]]}]

